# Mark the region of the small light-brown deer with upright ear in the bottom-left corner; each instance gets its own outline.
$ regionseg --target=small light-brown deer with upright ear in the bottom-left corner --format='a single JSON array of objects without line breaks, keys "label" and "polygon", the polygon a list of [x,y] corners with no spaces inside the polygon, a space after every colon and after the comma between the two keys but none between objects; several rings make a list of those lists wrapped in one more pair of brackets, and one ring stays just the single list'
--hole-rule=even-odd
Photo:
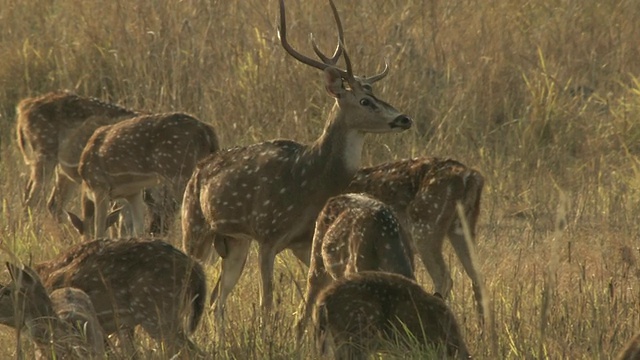
[{"label": "small light-brown deer with upright ear in the bottom-left corner", "polygon": [[106,338],[84,291],[65,287],[48,294],[28,266],[7,268],[12,281],[0,288],[0,324],[26,328],[37,358],[104,358]]}]

